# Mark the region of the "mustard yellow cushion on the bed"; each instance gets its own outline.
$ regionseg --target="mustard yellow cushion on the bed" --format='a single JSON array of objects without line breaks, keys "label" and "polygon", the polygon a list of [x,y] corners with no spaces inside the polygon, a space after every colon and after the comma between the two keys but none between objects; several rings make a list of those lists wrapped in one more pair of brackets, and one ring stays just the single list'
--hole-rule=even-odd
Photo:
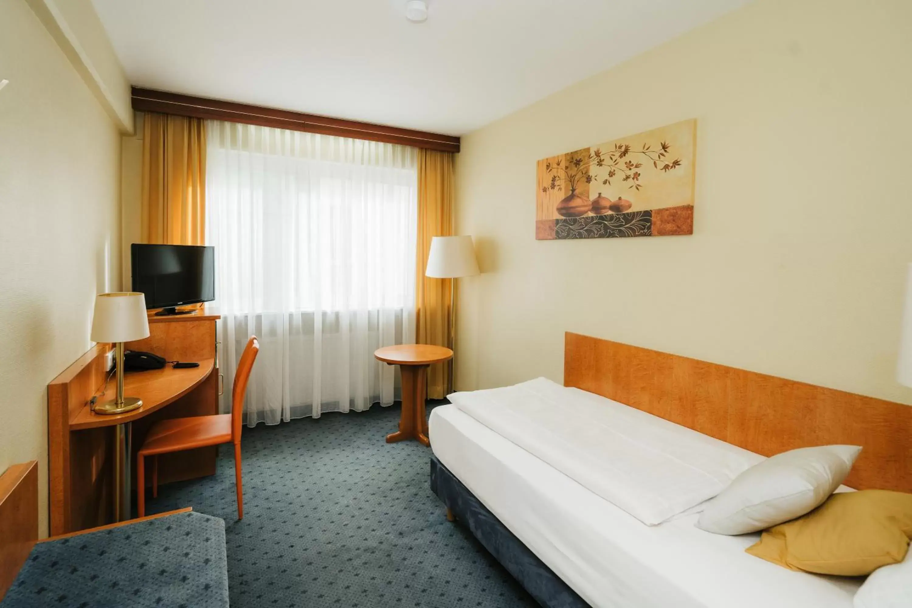
[{"label": "mustard yellow cushion on the bed", "polygon": [[773,526],[746,551],[792,570],[863,576],[902,562],[910,538],[912,494],[864,489]]}]

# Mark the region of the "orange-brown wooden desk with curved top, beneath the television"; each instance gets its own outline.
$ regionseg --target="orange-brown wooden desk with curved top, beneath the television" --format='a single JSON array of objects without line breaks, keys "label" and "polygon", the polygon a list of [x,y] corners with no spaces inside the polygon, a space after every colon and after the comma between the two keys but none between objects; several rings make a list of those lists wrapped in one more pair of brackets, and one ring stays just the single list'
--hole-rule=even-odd
[{"label": "orange-brown wooden desk with curved top, beneath the television", "polygon": [[[143,406],[125,414],[92,413],[108,376],[104,354],[110,345],[96,345],[47,386],[47,438],[51,534],[85,530],[111,523],[114,501],[114,449],[118,430],[130,428],[130,462],[151,425],[161,419],[218,414],[219,374],[212,309],[181,316],[150,314],[150,336],[128,342],[169,361],[195,361],[199,367],[130,372],[124,377],[128,397]],[[106,397],[116,390],[108,383]],[[103,399],[105,397],[101,397]],[[122,426],[121,426],[122,425]],[[122,437],[122,436],[120,436]],[[159,483],[193,479],[215,473],[217,448],[198,448],[159,459]],[[130,478],[135,479],[130,469]],[[150,476],[147,476],[149,479]],[[129,484],[133,487],[133,484]],[[135,498],[135,490],[132,492]]]}]

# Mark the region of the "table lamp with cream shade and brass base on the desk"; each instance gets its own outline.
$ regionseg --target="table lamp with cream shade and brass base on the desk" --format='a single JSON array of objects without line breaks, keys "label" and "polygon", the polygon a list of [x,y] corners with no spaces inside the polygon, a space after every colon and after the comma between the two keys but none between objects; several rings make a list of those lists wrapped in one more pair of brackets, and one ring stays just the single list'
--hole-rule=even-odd
[{"label": "table lamp with cream shade and brass base on the desk", "polygon": [[98,404],[96,414],[123,414],[142,407],[142,399],[123,396],[123,343],[149,337],[146,296],[137,292],[98,294],[92,317],[91,339],[116,348],[117,397]]}]

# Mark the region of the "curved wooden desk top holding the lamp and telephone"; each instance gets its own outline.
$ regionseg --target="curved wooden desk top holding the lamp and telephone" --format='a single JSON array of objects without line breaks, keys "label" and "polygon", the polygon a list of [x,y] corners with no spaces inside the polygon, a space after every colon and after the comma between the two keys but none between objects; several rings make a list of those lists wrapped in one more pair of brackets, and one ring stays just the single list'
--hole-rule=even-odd
[{"label": "curved wooden desk top holding the lamp and telephone", "polygon": [[[140,397],[142,407],[124,414],[105,415],[93,413],[91,407],[86,404],[75,417],[70,419],[70,430],[113,427],[144,417],[156,409],[167,406],[200,386],[202,381],[212,374],[215,366],[214,359],[203,359],[199,363],[199,367],[184,369],[164,366],[161,369],[150,369],[145,372],[128,372],[123,378],[123,394],[125,397]],[[98,400],[109,399],[116,392],[117,381],[111,377],[107,394],[104,397],[98,397]]]}]

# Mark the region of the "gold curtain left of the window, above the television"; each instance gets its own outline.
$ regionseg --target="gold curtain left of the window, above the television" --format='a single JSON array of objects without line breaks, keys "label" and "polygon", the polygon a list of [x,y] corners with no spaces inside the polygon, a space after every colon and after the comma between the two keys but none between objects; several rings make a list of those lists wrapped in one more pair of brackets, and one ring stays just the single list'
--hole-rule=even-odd
[{"label": "gold curtain left of the window, above the television", "polygon": [[201,119],[145,115],[140,217],[143,242],[203,244],[206,131]]}]

